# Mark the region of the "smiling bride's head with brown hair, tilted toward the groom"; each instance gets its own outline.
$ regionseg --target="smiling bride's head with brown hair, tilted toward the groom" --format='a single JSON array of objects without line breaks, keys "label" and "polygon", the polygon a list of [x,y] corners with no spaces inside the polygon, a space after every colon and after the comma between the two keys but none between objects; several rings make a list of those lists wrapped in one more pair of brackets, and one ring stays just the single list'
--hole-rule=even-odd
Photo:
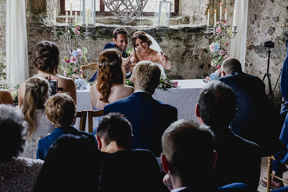
[{"label": "smiling bride's head with brown hair, tilted toward the groom", "polygon": [[135,56],[136,48],[138,52],[141,51],[141,47],[143,47],[142,44],[147,44],[147,48],[149,49],[150,45],[152,45],[152,41],[147,37],[144,31],[136,31],[132,36],[132,45]]}]

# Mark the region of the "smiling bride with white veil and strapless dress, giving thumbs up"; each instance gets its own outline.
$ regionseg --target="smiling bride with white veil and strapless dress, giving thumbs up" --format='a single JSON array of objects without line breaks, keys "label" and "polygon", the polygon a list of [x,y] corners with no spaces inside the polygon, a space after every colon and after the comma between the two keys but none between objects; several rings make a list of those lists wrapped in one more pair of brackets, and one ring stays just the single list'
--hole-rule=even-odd
[{"label": "smiling bride with white veil and strapless dress, giving thumbs up", "polygon": [[130,58],[132,65],[129,67],[129,71],[133,71],[134,66],[139,61],[152,61],[157,63],[161,69],[161,75],[166,78],[164,68],[170,69],[171,63],[166,54],[162,53],[161,48],[154,38],[146,34],[144,31],[137,31],[132,37],[133,54]]}]

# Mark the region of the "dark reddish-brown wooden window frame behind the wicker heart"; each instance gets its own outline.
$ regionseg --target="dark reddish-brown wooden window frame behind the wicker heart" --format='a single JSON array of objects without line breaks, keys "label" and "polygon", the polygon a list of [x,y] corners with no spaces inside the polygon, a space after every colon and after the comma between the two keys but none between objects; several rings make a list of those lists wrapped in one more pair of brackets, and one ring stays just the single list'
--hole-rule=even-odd
[{"label": "dark reddish-brown wooden window frame behind the wicker heart", "polygon": [[[103,0],[100,1],[100,11],[96,11],[96,16],[114,16],[110,11],[105,11],[105,4]],[[69,11],[69,10],[68,10]],[[60,0],[60,14],[65,15],[65,0]],[[77,12],[80,12],[77,10]],[[143,12],[143,16],[154,16],[155,12]],[[75,11],[72,11],[75,14]],[[179,0],[174,0],[174,12],[170,14],[170,17],[177,16],[179,14]]]}]

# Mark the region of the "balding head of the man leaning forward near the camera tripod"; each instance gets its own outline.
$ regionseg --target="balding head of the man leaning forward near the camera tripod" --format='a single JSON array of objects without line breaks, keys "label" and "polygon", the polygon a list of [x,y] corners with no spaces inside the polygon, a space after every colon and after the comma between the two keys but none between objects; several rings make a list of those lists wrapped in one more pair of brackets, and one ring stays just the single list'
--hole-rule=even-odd
[{"label": "balding head of the man leaning forward near the camera tripod", "polygon": [[221,77],[230,75],[233,72],[239,73],[241,71],[242,66],[240,61],[233,57],[228,57],[221,65]]}]

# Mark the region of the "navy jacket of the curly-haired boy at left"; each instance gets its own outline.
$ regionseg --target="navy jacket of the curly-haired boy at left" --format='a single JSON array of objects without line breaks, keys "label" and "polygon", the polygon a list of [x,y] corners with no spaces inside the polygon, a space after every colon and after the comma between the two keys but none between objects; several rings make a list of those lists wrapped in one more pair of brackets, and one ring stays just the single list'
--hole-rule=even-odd
[{"label": "navy jacket of the curly-haired boy at left", "polygon": [[87,135],[90,137],[90,139],[92,139],[92,140],[94,139],[95,145],[96,145],[95,137],[91,133],[86,133],[84,131],[78,131],[76,128],[74,128],[72,126],[58,127],[50,135],[45,136],[44,138],[42,138],[38,141],[38,150],[37,150],[36,159],[45,160],[45,157],[49,151],[51,144],[58,137],[65,135],[65,134]]}]

